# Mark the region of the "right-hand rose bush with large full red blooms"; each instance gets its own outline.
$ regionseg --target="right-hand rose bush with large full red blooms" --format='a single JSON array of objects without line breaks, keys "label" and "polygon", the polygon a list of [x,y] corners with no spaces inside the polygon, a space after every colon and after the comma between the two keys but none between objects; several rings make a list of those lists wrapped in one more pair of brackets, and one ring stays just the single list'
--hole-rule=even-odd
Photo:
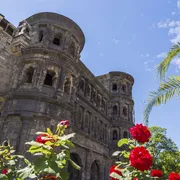
[{"label": "right-hand rose bush with large full red blooms", "polygon": [[[117,156],[118,162],[110,169],[111,180],[161,179],[163,171],[152,169],[155,158],[148,149],[150,131],[142,124],[135,125],[129,131],[132,139],[119,140],[117,145],[120,150],[113,153],[113,156]],[[179,180],[180,174],[169,173],[168,180]]]}]

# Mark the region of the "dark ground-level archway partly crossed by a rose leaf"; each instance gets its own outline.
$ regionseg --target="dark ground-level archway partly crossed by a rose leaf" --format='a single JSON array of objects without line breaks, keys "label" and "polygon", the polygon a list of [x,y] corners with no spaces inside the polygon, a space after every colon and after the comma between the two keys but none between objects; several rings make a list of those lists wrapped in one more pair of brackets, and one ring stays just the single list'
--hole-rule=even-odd
[{"label": "dark ground-level archway partly crossed by a rose leaf", "polygon": [[[81,158],[76,153],[71,153],[71,159],[82,168]],[[80,180],[81,170],[75,169],[70,163],[68,164],[69,180]]]}]

